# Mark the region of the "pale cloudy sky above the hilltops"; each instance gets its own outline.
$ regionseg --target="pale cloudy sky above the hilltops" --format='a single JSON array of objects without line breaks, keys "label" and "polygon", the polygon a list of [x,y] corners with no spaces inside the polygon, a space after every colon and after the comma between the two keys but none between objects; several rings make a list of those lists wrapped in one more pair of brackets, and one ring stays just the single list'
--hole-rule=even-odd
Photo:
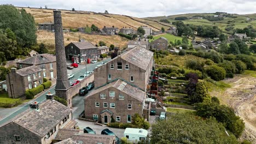
[{"label": "pale cloudy sky above the hilltops", "polygon": [[184,13],[235,14],[256,13],[256,0],[1,0],[0,4],[19,7],[43,7],[123,14],[136,17],[175,15]]}]

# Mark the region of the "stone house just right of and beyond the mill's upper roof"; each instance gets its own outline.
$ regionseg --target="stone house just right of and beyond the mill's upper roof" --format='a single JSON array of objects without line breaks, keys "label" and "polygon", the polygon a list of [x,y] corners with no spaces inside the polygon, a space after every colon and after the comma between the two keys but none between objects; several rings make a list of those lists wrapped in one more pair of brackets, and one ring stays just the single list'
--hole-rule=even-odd
[{"label": "stone house just right of and beyond the mill's upper roof", "polygon": [[156,49],[157,51],[160,50],[167,50],[168,48],[168,40],[164,37],[160,37],[150,43],[151,49]]}]

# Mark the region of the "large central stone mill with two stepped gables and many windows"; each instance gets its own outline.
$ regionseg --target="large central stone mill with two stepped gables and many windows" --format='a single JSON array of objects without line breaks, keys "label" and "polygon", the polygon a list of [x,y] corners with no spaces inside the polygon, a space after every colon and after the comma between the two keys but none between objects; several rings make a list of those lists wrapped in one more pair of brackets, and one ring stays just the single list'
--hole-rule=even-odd
[{"label": "large central stone mill with two stepped gables and many windows", "polygon": [[153,61],[153,52],[136,46],[96,68],[96,89],[84,99],[85,118],[107,124],[111,119],[131,123],[135,113],[147,117],[144,108]]}]

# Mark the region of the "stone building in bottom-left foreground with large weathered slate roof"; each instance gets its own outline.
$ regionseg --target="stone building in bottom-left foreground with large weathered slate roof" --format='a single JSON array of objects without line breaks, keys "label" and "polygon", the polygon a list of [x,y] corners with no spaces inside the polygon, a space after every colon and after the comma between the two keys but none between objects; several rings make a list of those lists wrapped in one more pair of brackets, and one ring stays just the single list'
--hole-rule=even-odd
[{"label": "stone building in bottom-left foreground with large weathered slate roof", "polygon": [[0,143],[49,144],[59,129],[77,124],[72,120],[72,109],[51,98],[40,104],[35,101],[30,107],[0,126]]}]

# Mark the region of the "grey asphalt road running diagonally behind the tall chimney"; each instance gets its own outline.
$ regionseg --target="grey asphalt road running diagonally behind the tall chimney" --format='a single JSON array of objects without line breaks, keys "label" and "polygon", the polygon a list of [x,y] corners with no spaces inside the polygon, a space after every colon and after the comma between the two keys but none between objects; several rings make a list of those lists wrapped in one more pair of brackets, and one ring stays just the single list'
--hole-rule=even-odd
[{"label": "grey asphalt road running diagonally behind the tall chimney", "polygon": [[[104,61],[101,61],[101,62],[108,62],[108,61],[110,61],[110,58],[105,59]],[[86,73],[85,70],[93,71],[93,69],[97,65],[99,65],[101,62],[86,64],[86,65],[79,65],[78,68],[74,68],[72,70],[67,70],[68,74],[74,74],[74,77],[70,81],[72,81],[74,79],[78,79],[78,77],[80,75],[84,75],[84,73]],[[9,121],[11,118],[14,118],[15,116],[19,115],[19,113],[24,112],[25,110],[29,109],[30,108],[29,104],[32,101],[38,101],[38,103],[42,103],[42,101],[45,100],[45,95],[48,94],[48,92],[55,93],[55,86],[51,87],[50,89],[47,89],[42,95],[40,95],[36,99],[33,99],[33,100],[29,101],[26,104],[23,104],[21,106],[14,107],[14,108],[11,108],[11,109],[0,109],[0,113],[4,113],[3,115],[1,115],[1,117],[3,117],[3,118],[0,119],[0,125],[2,125],[5,122]],[[83,100],[80,101],[80,103],[82,103],[82,102],[83,102]],[[75,110],[73,109],[73,111],[75,111]],[[75,114],[77,114],[79,112],[75,111]]]}]

